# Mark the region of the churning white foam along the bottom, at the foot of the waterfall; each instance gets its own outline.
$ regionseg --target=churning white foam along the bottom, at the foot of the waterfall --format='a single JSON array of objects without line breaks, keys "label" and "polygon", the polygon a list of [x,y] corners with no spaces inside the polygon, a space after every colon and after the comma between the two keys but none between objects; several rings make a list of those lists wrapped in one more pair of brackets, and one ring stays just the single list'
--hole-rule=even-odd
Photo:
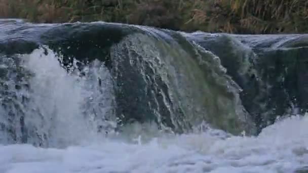
[{"label": "churning white foam along the bottom, at the foot of the waterfall", "polygon": [[0,172],[293,172],[308,165],[308,116],[269,126],[257,138],[209,133],[146,144],[104,140],[88,146],[0,147]]}]

